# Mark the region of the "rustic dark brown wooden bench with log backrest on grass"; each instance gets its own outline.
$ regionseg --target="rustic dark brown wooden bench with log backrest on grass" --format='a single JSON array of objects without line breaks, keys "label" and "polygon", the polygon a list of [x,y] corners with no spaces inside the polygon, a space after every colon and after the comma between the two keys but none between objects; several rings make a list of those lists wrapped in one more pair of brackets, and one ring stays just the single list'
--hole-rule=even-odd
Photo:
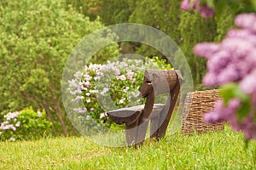
[{"label": "rustic dark brown wooden bench with log backrest on grass", "polygon": [[[177,101],[182,80],[179,71],[147,70],[144,73],[141,96],[146,98],[145,105],[108,111],[108,117],[117,124],[125,124],[126,144],[131,146],[143,144],[148,122],[150,121],[150,138],[165,136],[166,128]],[[165,104],[154,104],[158,94],[169,94]]]}]

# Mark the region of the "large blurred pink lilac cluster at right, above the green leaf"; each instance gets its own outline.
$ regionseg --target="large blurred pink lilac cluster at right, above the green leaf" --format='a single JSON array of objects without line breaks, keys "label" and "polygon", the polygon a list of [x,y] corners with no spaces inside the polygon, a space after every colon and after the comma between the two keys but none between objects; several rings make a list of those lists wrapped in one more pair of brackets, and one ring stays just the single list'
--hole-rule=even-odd
[{"label": "large blurred pink lilac cluster at right, above the green leaf", "polygon": [[[246,15],[242,14],[242,16]],[[240,18],[240,15],[237,17]],[[240,82],[256,67],[256,34],[244,29],[233,29],[218,44],[212,42],[196,44],[194,53],[208,59],[207,75],[203,80],[207,86]]]}]

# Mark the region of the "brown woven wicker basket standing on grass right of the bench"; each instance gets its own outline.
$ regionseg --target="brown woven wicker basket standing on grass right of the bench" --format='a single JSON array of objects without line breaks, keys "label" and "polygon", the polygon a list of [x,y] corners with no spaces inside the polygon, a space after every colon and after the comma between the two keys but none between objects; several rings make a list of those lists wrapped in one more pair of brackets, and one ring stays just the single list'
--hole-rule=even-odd
[{"label": "brown woven wicker basket standing on grass right of the bench", "polygon": [[203,114],[213,110],[217,99],[220,99],[218,90],[197,91],[187,94],[181,133],[207,133],[224,129],[224,122],[207,123],[203,121]]}]

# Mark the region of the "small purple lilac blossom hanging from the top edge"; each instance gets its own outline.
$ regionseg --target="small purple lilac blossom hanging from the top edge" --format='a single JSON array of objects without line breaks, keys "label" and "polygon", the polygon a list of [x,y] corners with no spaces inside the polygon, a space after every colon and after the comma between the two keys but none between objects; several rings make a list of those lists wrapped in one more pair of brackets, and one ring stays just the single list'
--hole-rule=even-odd
[{"label": "small purple lilac blossom hanging from the top edge", "polygon": [[207,6],[207,4],[201,5],[201,0],[183,0],[181,3],[181,8],[183,10],[195,9],[203,17],[212,17],[215,14],[215,10]]}]

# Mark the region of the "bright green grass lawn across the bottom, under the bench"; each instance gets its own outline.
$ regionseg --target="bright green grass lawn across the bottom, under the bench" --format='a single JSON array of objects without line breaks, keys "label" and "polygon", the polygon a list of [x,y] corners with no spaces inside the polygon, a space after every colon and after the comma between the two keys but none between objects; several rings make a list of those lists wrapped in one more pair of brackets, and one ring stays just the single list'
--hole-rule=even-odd
[{"label": "bright green grass lawn across the bottom, under the bench", "polygon": [[218,133],[176,133],[142,147],[109,148],[86,138],[0,142],[1,169],[256,169],[256,143],[230,127]]}]

